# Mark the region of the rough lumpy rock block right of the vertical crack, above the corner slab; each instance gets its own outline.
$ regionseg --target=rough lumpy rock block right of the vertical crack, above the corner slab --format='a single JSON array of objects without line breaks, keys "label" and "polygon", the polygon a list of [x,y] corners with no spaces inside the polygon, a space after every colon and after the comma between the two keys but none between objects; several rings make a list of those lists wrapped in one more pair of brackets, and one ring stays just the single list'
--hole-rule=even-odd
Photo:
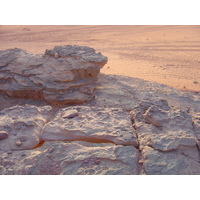
[{"label": "rough lumpy rock block right of the vertical crack, above the corner slab", "polygon": [[[164,103],[163,100],[160,100]],[[169,151],[180,146],[195,147],[197,140],[192,126],[192,117],[186,111],[169,109],[165,102],[144,100],[131,111],[132,121],[138,133],[140,148]]]}]

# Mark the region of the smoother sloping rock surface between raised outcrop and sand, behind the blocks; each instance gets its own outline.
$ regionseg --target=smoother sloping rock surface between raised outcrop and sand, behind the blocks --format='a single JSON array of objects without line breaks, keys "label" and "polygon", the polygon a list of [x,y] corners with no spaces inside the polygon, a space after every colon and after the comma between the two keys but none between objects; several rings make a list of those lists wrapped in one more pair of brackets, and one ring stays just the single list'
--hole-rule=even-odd
[{"label": "smoother sloping rock surface between raised outcrop and sand, behind the blocks", "polygon": [[[99,74],[95,98],[88,104],[97,107],[115,107],[131,111],[144,99],[167,100],[170,107],[200,112],[200,95],[182,92],[156,82],[119,75]],[[161,102],[160,102],[161,103]],[[162,103],[162,106],[166,106]],[[163,108],[164,108],[163,107]]]}]

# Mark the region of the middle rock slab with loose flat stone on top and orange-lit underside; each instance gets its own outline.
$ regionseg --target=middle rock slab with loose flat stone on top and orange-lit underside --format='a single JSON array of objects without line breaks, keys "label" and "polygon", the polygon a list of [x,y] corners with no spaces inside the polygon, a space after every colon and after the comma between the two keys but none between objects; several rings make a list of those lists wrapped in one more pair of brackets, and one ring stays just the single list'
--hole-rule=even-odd
[{"label": "middle rock slab with loose flat stone on top and orange-lit underside", "polygon": [[130,116],[120,108],[63,108],[45,125],[40,138],[43,141],[84,140],[138,146]]}]

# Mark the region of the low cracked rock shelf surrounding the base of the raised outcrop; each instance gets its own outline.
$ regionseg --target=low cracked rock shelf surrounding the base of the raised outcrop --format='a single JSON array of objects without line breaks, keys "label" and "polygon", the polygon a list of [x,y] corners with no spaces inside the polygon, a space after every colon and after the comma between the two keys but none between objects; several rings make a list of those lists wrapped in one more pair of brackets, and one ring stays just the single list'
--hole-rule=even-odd
[{"label": "low cracked rock shelf surrounding the base of the raised outcrop", "polygon": [[2,93],[0,174],[200,174],[198,93],[104,74],[96,84],[81,106]]}]

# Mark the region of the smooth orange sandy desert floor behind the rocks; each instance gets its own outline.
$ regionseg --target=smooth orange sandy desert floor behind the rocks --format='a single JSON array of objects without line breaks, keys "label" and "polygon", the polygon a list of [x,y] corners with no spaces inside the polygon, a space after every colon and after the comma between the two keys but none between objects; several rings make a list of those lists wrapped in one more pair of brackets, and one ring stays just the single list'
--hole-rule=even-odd
[{"label": "smooth orange sandy desert floor behind the rocks", "polygon": [[44,53],[68,44],[107,56],[103,73],[200,92],[200,26],[0,26],[0,50]]}]

